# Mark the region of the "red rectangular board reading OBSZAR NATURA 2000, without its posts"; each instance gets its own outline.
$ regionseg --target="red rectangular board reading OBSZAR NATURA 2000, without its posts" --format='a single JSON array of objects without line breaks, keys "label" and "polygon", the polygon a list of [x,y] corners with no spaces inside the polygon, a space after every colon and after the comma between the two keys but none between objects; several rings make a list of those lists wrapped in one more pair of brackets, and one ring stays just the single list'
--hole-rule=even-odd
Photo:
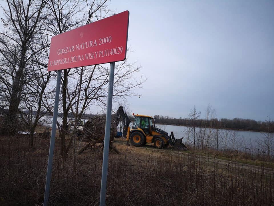
[{"label": "red rectangular board reading OBSZAR NATURA 2000, without its posts", "polygon": [[51,38],[48,71],[126,59],[129,11]]}]

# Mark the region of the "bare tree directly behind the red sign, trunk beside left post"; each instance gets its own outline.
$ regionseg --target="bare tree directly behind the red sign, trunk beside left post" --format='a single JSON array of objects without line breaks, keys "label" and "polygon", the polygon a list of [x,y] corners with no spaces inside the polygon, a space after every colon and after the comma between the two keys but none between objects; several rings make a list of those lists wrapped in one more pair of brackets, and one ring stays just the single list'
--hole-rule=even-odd
[{"label": "bare tree directly behind the red sign, trunk beside left post", "polygon": [[[91,23],[104,18],[108,13],[107,1],[75,1],[71,3],[69,0],[66,1],[49,1],[47,8],[51,15],[48,17],[48,23],[45,25],[45,30],[50,36],[58,35],[60,33],[69,31],[76,27]],[[92,71],[92,67],[88,67]],[[81,69],[80,69],[81,70]],[[59,125],[59,132],[61,138],[61,155],[66,156],[66,134],[68,125],[68,112],[70,110],[70,104],[67,96],[67,89],[69,84],[69,78],[75,78],[76,74],[79,74],[75,69],[68,69],[63,71],[63,77],[61,82],[61,103],[62,103],[62,124]],[[71,99],[73,100],[73,99]],[[70,143],[69,145],[71,144]],[[69,146],[70,147],[70,146]]]}]

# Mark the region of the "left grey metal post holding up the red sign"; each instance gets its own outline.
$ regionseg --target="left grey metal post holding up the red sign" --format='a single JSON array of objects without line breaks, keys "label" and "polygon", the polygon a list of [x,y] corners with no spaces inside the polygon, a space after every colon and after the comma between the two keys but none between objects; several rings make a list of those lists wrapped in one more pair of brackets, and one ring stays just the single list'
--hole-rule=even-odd
[{"label": "left grey metal post holding up the red sign", "polygon": [[49,199],[49,187],[50,187],[50,183],[51,183],[51,171],[52,171],[53,151],[54,151],[54,144],[55,144],[57,116],[58,116],[58,103],[59,103],[59,94],[60,94],[61,73],[62,73],[62,70],[57,71],[55,102],[54,102],[54,110],[53,110],[52,129],[51,129],[51,143],[49,145],[49,159],[48,159],[48,168],[47,168],[47,177],[46,177],[44,204],[43,204],[44,206],[48,205],[48,199]]}]

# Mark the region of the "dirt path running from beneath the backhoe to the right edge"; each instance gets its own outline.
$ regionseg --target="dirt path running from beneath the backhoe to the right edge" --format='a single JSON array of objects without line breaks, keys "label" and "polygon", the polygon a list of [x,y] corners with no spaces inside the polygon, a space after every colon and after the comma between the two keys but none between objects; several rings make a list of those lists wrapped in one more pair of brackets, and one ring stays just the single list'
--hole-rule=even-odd
[{"label": "dirt path running from beneath the backhoe to the right edge", "polygon": [[[185,158],[188,157],[188,155],[190,155],[189,153],[183,152],[183,151],[175,151],[172,150],[171,148],[168,149],[164,149],[164,150],[159,150],[154,148],[153,145],[150,144],[146,144],[142,147],[135,147],[135,146],[126,146],[126,140],[122,140],[122,139],[115,139],[114,140],[114,145],[118,147],[119,150],[130,150],[131,152],[134,152],[136,154],[141,154],[142,155],[146,155],[148,152],[165,152],[167,154],[170,155],[178,155],[178,156],[183,156]],[[256,173],[262,173],[265,176],[269,176],[269,175],[273,175],[274,174],[274,169],[272,168],[267,168],[264,167],[264,169],[262,170],[262,167],[259,166],[255,166],[255,165],[249,165],[249,164],[244,164],[244,163],[238,163],[236,161],[233,161],[231,159],[231,161],[227,161],[227,160],[221,160],[221,159],[217,159],[217,158],[213,158],[213,157],[205,157],[205,156],[200,156],[200,155],[195,155],[197,159],[202,159],[203,161],[205,161],[207,164],[209,164],[209,166],[214,166],[218,165],[218,170],[220,172],[224,171],[225,173],[229,172],[229,170],[231,170],[231,167],[236,167],[238,170],[247,170],[247,171],[252,171],[252,172],[256,172]]]}]

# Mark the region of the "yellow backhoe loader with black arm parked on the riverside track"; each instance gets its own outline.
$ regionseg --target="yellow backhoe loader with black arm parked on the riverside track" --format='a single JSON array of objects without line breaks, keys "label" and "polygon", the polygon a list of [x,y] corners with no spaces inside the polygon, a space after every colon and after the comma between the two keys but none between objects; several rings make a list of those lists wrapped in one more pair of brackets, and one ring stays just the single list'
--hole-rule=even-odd
[{"label": "yellow backhoe loader with black arm parked on the riverside track", "polygon": [[187,150],[187,147],[182,143],[183,138],[175,139],[173,132],[168,135],[164,130],[157,128],[151,116],[140,114],[134,115],[134,122],[132,128],[130,128],[130,119],[124,112],[123,107],[120,106],[116,112],[117,126],[121,119],[124,124],[122,134],[126,137],[127,144],[129,141],[134,146],[154,143],[154,146],[159,149],[171,145],[174,149]]}]

